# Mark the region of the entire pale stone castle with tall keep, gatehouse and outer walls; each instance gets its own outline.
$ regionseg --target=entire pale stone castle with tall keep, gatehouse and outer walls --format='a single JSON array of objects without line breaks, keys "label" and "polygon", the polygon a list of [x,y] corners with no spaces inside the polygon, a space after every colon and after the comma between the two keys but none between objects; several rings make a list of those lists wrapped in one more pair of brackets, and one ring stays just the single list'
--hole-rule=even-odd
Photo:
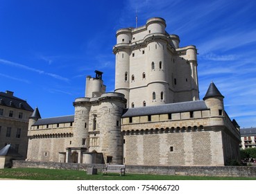
[{"label": "entire pale stone castle with tall keep, gatehouse and outer walls", "polygon": [[196,46],[180,48],[162,18],[117,31],[115,91],[87,76],[75,114],[28,126],[30,161],[223,166],[239,159],[239,126],[214,83],[199,100]]}]

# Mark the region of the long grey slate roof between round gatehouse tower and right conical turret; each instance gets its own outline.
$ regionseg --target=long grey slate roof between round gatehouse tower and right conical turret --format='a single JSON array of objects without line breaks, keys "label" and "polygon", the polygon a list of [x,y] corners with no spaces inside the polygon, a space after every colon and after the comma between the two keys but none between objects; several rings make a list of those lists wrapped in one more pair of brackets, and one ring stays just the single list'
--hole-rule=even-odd
[{"label": "long grey slate roof between round gatehouse tower and right conical turret", "polygon": [[122,117],[144,116],[153,114],[169,114],[176,112],[190,112],[205,109],[208,109],[207,106],[205,105],[205,101],[196,100],[184,103],[171,103],[158,106],[134,107],[130,109],[124,109]]}]

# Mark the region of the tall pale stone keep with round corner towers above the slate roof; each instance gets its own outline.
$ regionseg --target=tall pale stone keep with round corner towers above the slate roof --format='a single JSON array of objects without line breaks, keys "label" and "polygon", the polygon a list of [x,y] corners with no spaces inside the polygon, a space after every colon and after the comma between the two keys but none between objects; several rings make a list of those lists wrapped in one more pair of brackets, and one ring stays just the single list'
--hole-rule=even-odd
[{"label": "tall pale stone keep with round corner towers above the slate roof", "polygon": [[117,30],[115,91],[127,107],[198,100],[196,46],[179,46],[164,19],[148,19],[145,26]]}]

